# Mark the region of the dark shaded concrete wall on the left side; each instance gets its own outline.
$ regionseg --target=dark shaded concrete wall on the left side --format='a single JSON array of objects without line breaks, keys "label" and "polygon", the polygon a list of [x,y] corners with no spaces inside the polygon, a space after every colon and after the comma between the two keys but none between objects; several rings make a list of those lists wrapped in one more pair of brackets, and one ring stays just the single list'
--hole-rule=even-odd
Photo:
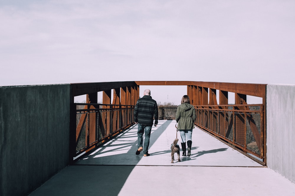
[{"label": "dark shaded concrete wall on the left side", "polygon": [[0,87],[0,195],[26,195],[68,165],[70,85]]}]

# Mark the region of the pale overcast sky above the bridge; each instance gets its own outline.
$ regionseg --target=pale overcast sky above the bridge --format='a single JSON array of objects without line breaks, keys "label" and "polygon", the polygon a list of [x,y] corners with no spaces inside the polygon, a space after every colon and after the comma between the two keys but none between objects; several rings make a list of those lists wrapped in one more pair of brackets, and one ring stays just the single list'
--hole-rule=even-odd
[{"label": "pale overcast sky above the bridge", "polygon": [[294,36],[293,0],[0,0],[0,86],[295,84]]}]

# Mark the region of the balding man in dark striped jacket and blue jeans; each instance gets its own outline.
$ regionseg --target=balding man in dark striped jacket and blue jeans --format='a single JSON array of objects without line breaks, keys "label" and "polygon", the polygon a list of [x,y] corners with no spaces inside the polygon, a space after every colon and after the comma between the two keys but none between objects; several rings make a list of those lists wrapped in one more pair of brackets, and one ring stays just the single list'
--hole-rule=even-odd
[{"label": "balding man in dark striped jacket and blue jeans", "polygon": [[[136,155],[139,155],[143,150],[143,156],[150,156],[148,153],[148,146],[150,144],[150,132],[153,126],[153,118],[155,117],[155,127],[158,125],[158,105],[155,100],[150,96],[150,90],[146,89],[143,93],[143,97],[138,99],[134,108],[134,121],[138,123],[137,129],[137,151]],[[142,136],[145,133],[144,148],[142,148]]]}]

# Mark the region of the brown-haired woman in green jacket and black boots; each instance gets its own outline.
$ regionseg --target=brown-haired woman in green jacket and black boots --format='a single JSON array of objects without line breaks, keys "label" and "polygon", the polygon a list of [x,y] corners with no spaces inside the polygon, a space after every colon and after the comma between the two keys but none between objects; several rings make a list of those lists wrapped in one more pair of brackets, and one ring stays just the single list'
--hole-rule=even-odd
[{"label": "brown-haired woman in green jacket and black boots", "polygon": [[177,129],[181,136],[182,156],[186,156],[186,142],[187,155],[191,156],[191,133],[195,128],[194,121],[196,120],[196,110],[190,104],[189,96],[184,95],[181,99],[181,105],[178,105],[176,111]]}]

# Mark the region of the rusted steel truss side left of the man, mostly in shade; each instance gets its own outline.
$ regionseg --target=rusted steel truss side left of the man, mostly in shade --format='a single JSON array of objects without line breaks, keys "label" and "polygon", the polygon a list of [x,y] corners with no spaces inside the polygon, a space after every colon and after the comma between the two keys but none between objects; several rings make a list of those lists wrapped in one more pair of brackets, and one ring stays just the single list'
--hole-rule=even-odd
[{"label": "rusted steel truss side left of the man, mostly in shade", "polygon": [[[100,91],[103,92],[102,104],[97,104]],[[71,84],[71,163],[78,154],[92,150],[132,125],[138,92],[135,82]],[[79,95],[86,95],[86,104],[74,103],[74,97]],[[77,110],[76,105],[84,105],[84,108]]]}]

